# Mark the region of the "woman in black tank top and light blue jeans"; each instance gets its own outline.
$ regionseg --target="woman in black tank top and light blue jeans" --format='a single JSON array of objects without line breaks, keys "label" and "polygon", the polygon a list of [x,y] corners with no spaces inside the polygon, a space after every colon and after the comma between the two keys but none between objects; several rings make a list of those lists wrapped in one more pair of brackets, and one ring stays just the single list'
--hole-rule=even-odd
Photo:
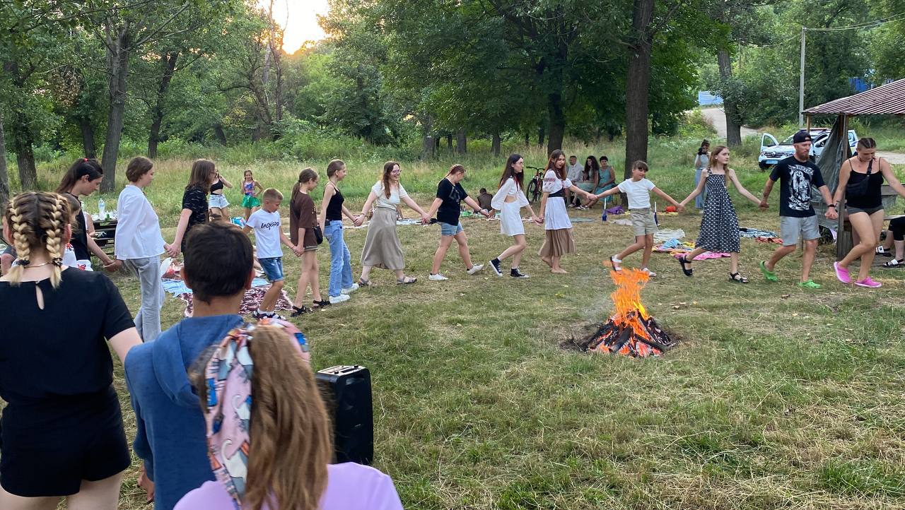
[{"label": "woman in black tank top and light blue jeans", "polygon": [[324,199],[320,201],[320,231],[330,247],[330,283],[329,301],[342,303],[348,301],[348,294],[358,288],[352,281],[352,255],[348,251],[342,235],[342,217],[358,223],[358,217],[349,213],[343,202],[342,193],[337,184],[346,177],[346,164],[334,159],[327,165],[329,181],[324,186]]}]

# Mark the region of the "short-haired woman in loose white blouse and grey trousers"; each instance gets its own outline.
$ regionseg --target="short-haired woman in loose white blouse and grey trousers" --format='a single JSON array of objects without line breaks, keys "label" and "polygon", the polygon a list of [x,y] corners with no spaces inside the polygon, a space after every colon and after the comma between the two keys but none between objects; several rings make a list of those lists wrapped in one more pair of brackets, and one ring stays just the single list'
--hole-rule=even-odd
[{"label": "short-haired woman in loose white blouse and grey trousers", "polygon": [[160,335],[160,308],[164,289],[160,282],[160,254],[169,245],[160,235],[157,213],[148,202],[144,188],[154,180],[154,164],[147,157],[134,157],[126,168],[129,184],[119,193],[114,254],[138,277],[141,308],[135,316],[138,335],[151,342]]}]

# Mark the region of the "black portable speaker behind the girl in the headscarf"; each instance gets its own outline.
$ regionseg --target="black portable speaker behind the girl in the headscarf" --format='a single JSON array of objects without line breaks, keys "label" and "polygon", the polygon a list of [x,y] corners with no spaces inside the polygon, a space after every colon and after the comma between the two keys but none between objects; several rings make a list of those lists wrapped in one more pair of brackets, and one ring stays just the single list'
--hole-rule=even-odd
[{"label": "black portable speaker behind the girl in the headscarf", "polygon": [[333,462],[369,466],[374,458],[371,373],[357,364],[339,365],[319,371],[317,379],[333,420]]}]

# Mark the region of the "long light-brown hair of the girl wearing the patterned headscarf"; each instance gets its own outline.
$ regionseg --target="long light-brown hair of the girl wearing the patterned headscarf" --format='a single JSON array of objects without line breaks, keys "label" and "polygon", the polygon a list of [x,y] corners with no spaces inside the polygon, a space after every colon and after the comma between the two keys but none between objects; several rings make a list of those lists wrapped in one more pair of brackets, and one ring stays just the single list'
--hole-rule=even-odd
[{"label": "long light-brown hair of the girl wearing the patterned headscarf", "polygon": [[[249,343],[254,371],[246,509],[261,510],[266,503],[318,510],[327,489],[333,452],[327,409],[310,365],[292,342],[280,327],[257,326]],[[205,402],[212,389],[197,369],[203,365],[195,364],[192,379]]]}]

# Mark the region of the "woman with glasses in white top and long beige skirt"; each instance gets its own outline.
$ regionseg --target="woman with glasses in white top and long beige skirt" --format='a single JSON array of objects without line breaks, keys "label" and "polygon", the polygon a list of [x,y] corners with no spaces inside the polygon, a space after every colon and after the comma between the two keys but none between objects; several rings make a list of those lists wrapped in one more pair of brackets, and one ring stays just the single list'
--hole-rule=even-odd
[{"label": "woman with glasses in white top and long beige skirt", "polygon": [[427,213],[412,200],[402,183],[399,175],[402,170],[395,161],[387,161],[384,165],[383,178],[371,187],[371,193],[367,195],[365,206],[361,208],[361,216],[358,217],[356,226],[364,221],[365,213],[374,206],[374,217],[367,226],[367,238],[365,247],[361,250],[361,278],[358,285],[367,287],[371,284],[368,278],[372,268],[391,269],[395,272],[396,283],[414,283],[417,279],[405,276],[405,258],[402,253],[402,244],[396,233],[396,205],[405,203],[414,211],[421,214],[421,221],[430,222]]}]

